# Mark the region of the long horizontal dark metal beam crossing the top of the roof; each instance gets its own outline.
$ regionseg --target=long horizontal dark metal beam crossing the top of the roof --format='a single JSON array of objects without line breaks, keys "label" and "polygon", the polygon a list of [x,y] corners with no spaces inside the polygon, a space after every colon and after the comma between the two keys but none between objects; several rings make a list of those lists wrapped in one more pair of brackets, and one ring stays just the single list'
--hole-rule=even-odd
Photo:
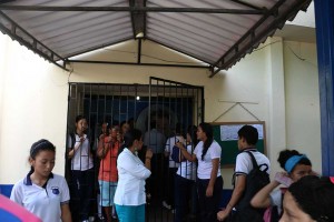
[{"label": "long horizontal dark metal beam crossing the top of the roof", "polygon": [[0,10],[16,11],[129,11],[129,12],[188,12],[188,13],[233,13],[264,14],[266,9],[213,9],[213,8],[165,8],[165,7],[46,7],[46,6],[4,6]]}]

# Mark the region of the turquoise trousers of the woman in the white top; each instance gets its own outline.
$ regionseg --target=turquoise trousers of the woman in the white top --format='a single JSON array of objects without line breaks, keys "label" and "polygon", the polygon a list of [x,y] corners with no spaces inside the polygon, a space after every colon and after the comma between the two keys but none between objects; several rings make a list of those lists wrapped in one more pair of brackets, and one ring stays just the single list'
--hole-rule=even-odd
[{"label": "turquoise trousers of the woman in the white top", "polygon": [[145,204],[115,206],[119,222],[145,222]]}]

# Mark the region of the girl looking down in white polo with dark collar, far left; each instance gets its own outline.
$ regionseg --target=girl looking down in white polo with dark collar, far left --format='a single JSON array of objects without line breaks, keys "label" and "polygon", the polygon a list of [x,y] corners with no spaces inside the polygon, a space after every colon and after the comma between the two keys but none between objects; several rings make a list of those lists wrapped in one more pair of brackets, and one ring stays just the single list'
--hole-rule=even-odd
[{"label": "girl looking down in white polo with dark collar, far left", "polygon": [[14,184],[10,199],[45,222],[71,222],[69,189],[63,176],[53,174],[56,148],[39,140],[30,149],[30,172]]}]

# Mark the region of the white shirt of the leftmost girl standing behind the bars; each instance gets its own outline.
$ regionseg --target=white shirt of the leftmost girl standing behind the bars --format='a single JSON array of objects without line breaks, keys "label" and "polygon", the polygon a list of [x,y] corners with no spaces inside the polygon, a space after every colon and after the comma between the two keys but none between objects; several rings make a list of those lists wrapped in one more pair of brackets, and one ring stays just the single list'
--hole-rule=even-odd
[{"label": "white shirt of the leftmost girl standing behind the bars", "polygon": [[[80,143],[80,137],[76,133],[75,147]],[[85,141],[81,143],[80,148],[75,152],[71,159],[71,170],[86,171],[94,167],[92,157],[89,154],[89,140],[87,134],[84,134]],[[72,144],[71,137],[68,137],[68,144]]]}]

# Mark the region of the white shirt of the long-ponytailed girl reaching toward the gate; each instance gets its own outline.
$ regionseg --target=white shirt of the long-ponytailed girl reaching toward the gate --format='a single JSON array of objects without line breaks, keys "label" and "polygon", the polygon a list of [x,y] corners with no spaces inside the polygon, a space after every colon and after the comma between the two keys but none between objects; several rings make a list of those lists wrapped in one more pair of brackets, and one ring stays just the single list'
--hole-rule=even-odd
[{"label": "white shirt of the long-ponytailed girl reaching toward the gate", "polygon": [[[208,148],[206,154],[204,155],[204,160],[202,160],[202,152],[203,152],[204,142],[199,141],[194,150],[196,158],[198,160],[198,168],[197,168],[197,176],[202,180],[210,179],[212,170],[213,170],[213,159],[219,159],[220,163],[220,155],[222,155],[222,148],[220,145],[214,140],[210,147]],[[220,167],[218,168],[217,176],[220,174]]]}]

